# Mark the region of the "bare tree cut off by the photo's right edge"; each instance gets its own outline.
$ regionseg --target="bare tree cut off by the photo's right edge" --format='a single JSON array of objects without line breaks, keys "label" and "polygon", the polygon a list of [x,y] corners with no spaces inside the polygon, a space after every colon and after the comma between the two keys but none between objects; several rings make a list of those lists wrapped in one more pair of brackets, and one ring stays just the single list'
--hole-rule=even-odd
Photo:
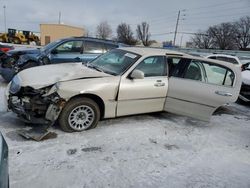
[{"label": "bare tree cut off by the photo's right edge", "polygon": [[246,16],[234,23],[235,43],[239,49],[246,49],[250,44],[250,17]]}]

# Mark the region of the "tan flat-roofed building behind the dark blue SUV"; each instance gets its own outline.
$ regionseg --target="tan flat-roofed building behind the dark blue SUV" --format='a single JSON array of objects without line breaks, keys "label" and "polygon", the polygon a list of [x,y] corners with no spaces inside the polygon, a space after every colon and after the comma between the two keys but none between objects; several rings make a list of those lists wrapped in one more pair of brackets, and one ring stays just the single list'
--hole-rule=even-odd
[{"label": "tan flat-roofed building behind the dark blue SUV", "polygon": [[83,28],[64,24],[40,24],[41,45],[46,45],[57,39],[85,36]]}]

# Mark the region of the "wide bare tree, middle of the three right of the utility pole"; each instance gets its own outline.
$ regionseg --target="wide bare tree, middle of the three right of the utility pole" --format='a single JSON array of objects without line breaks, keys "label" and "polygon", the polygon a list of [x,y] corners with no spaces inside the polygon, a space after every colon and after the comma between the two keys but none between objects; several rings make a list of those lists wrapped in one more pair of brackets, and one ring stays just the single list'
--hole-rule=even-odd
[{"label": "wide bare tree, middle of the three right of the utility pole", "polygon": [[236,49],[234,42],[235,29],[232,23],[211,26],[208,29],[208,34],[212,38],[214,48],[221,50]]}]

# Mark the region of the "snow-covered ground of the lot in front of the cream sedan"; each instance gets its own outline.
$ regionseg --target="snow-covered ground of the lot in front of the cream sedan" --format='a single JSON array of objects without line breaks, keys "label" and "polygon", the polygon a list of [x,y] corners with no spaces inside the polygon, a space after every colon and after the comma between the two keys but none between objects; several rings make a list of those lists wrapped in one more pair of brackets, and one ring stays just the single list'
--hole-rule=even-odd
[{"label": "snow-covered ground of the lot in front of the cream sedan", "polygon": [[104,120],[95,129],[24,140],[0,113],[11,188],[250,187],[250,107],[233,104],[209,123],[169,113]]}]

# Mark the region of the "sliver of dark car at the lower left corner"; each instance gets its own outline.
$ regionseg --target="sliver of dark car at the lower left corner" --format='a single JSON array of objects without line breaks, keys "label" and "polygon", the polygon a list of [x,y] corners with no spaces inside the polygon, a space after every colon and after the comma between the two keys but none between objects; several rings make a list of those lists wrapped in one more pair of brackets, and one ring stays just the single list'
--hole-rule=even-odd
[{"label": "sliver of dark car at the lower left corner", "polygon": [[8,145],[0,132],[0,187],[9,187]]}]

